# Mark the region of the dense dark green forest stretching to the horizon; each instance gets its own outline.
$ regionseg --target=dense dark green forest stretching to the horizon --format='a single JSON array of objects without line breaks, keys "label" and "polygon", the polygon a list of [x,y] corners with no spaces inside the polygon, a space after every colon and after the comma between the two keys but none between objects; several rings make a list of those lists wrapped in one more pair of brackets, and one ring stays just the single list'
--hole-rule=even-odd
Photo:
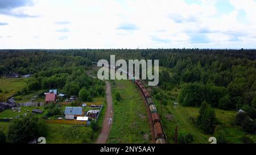
[{"label": "dense dark green forest stretching to the horizon", "polygon": [[[110,59],[151,59],[171,70],[159,74],[159,85],[151,94],[163,104],[168,95],[160,91],[180,89],[177,101],[185,107],[246,111],[236,124],[247,132],[256,128],[256,50],[250,49],[67,49],[1,50],[0,75],[32,74],[19,93],[57,88],[67,95],[91,101],[104,94],[104,83],[89,78],[92,62]],[[41,95],[43,95],[43,92]],[[214,112],[213,112],[214,113]],[[242,119],[239,120],[239,119]],[[252,120],[252,121],[251,121]],[[246,123],[246,124],[245,124]]]}]

